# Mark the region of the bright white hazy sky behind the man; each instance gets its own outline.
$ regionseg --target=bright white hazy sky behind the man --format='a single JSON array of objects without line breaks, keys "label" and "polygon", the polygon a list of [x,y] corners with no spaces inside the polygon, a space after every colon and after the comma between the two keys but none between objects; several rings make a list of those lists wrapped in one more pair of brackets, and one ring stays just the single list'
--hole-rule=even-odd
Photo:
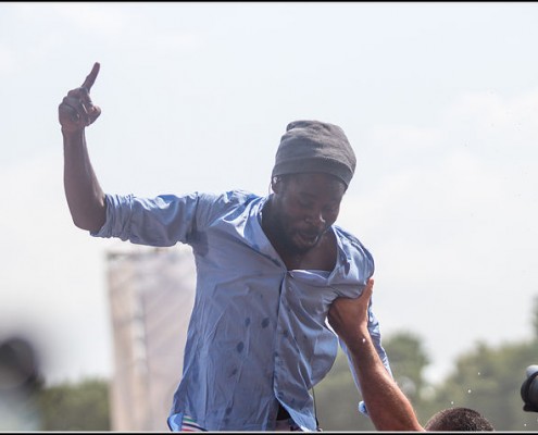
[{"label": "bright white hazy sky behind the man", "polygon": [[52,382],[112,373],[122,243],[73,225],[57,119],[98,61],[104,190],[265,194],[288,122],[338,124],[359,160],[338,223],[376,261],[381,333],[418,334],[433,381],[528,339],[537,23],[533,2],[0,3],[0,333],[32,331]]}]

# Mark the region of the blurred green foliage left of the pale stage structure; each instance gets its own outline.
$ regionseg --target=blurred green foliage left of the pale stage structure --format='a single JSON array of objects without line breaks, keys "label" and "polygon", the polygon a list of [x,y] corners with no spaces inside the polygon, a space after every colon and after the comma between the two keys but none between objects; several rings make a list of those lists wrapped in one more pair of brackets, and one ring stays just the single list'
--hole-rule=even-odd
[{"label": "blurred green foliage left of the pale stage structure", "polygon": [[109,384],[86,380],[43,388],[39,395],[42,431],[110,431]]}]

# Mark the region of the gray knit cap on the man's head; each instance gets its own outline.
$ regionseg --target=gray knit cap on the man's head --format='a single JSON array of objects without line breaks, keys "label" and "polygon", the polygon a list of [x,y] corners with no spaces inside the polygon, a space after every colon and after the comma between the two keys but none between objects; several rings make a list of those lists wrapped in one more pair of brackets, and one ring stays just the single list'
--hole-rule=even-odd
[{"label": "gray knit cap on the man's head", "polygon": [[340,127],[320,121],[295,121],[281,137],[272,177],[323,172],[349,186],[355,165],[355,154]]}]

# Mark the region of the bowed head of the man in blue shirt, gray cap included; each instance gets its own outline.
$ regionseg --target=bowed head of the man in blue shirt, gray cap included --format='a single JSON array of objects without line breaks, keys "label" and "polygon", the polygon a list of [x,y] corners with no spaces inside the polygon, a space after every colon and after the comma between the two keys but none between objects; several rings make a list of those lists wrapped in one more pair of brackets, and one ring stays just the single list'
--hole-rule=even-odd
[{"label": "bowed head of the man in blue shirt, gray cap included", "polygon": [[318,121],[288,124],[272,172],[272,213],[279,243],[312,249],[338,217],[356,160],[343,130]]}]

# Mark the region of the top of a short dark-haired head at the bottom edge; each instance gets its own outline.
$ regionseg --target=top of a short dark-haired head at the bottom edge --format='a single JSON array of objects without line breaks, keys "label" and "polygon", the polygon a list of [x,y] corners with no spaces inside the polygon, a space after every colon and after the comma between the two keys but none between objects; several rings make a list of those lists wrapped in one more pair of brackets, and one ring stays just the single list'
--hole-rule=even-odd
[{"label": "top of a short dark-haired head at the bottom edge", "polygon": [[470,408],[448,408],[435,413],[424,428],[428,432],[495,432],[492,424]]}]

